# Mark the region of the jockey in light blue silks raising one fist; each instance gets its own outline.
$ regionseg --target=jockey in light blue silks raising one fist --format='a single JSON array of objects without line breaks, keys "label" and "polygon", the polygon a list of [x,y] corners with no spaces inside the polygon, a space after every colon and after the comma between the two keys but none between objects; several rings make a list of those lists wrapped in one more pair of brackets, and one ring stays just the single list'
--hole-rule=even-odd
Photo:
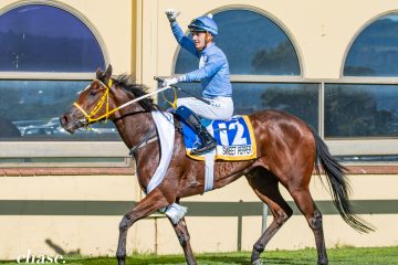
[{"label": "jockey in light blue silks raising one fist", "polygon": [[178,98],[176,113],[199,135],[201,145],[191,153],[201,155],[214,149],[217,144],[206,127],[200,124],[198,116],[207,119],[229,119],[233,114],[228,61],[226,54],[213,43],[218,28],[211,14],[191,21],[188,29],[192,39],[189,39],[176,21],[179,13],[172,9],[166,10],[165,13],[179,45],[199,59],[199,70],[178,77],[168,77],[163,86],[200,80],[202,96],[209,104],[195,97]]}]

